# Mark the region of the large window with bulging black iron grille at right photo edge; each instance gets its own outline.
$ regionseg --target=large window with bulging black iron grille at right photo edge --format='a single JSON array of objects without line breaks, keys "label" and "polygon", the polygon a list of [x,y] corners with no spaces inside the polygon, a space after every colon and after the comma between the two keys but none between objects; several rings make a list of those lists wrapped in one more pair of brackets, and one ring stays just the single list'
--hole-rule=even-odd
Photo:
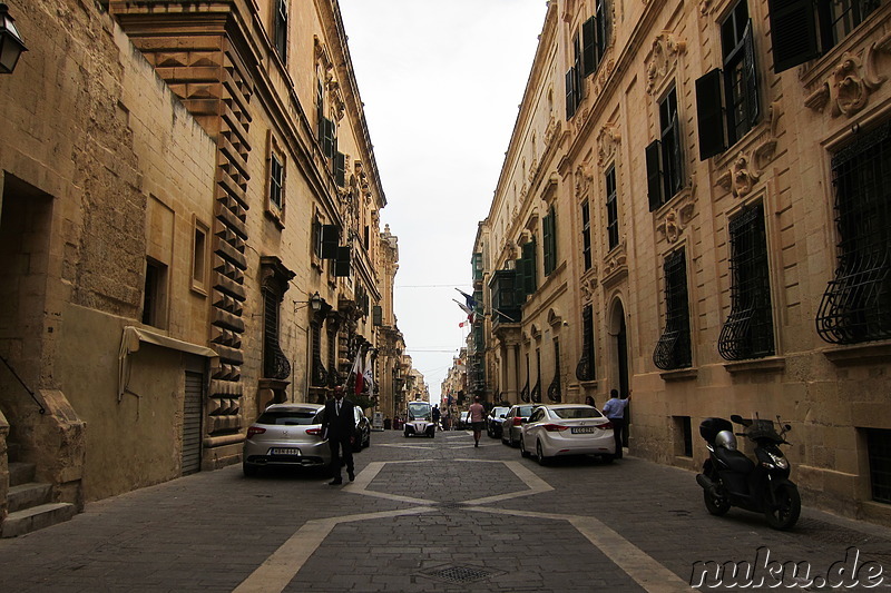
[{"label": "large window with bulging black iron grille at right photo edge", "polygon": [[891,123],[836,152],[838,260],[816,330],[831,344],[891,338]]}]

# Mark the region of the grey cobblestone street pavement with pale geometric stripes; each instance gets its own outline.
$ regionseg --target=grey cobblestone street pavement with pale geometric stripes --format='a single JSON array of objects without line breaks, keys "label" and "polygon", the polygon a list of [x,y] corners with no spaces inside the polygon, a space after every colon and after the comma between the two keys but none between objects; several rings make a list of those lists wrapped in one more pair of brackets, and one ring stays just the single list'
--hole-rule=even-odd
[{"label": "grey cobblestone street pavement with pale geometric stripes", "polygon": [[697,561],[765,553],[810,566],[797,580],[786,566],[779,590],[816,590],[831,567],[841,584],[860,577],[845,591],[887,570],[872,591],[891,590],[891,530],[805,508],[776,532],[738,510],[708,515],[691,472],[628,455],[541,467],[484,435],[472,445],[372,433],[344,486],[233,466],[92,503],[0,540],[0,592],[691,591]]}]

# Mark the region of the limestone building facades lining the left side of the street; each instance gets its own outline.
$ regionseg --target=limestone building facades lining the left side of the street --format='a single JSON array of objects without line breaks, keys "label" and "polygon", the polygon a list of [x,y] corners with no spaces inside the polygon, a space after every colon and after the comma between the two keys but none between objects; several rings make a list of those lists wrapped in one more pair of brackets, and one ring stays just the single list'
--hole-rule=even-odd
[{"label": "limestone building facades lining the left side of the street", "polygon": [[9,7],[0,518],[7,451],[80,506],[238,462],[356,359],[380,378],[396,239],[336,0]]}]

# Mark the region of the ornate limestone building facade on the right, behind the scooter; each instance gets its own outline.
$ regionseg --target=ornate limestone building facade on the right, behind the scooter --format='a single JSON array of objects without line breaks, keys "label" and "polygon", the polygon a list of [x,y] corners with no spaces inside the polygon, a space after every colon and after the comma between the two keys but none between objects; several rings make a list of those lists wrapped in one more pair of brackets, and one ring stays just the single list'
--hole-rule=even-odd
[{"label": "ornate limestone building facade on the right, behind the scooter", "polygon": [[780,415],[805,504],[891,522],[889,30],[551,0],[473,247],[477,393],[633,391],[630,451],[691,470],[703,418]]}]

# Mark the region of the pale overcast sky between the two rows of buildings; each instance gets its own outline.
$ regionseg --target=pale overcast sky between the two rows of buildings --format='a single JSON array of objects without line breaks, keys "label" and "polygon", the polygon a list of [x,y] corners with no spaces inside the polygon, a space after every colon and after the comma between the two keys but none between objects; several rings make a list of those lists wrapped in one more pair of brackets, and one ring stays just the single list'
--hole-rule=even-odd
[{"label": "pale overcast sky between the two rows of buildings", "polygon": [[[399,237],[395,314],[438,401],[467,318],[470,258],[545,22],[545,0],[340,0]],[[383,230],[383,228],[382,228]]]}]

